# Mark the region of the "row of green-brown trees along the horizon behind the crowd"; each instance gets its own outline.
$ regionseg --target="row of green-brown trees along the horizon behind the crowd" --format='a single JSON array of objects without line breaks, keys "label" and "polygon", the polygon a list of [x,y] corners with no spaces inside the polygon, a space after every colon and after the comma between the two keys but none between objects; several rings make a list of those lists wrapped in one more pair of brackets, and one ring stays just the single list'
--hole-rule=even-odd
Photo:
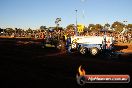
[{"label": "row of green-brown trees along the horizon behind the crowd", "polygon": [[[39,30],[32,30],[31,28],[24,30],[21,28],[6,28],[6,29],[1,29],[0,28],[0,33],[6,33],[8,35],[11,35],[12,33],[15,34],[33,34],[33,33],[38,33],[38,32],[44,32],[44,31],[68,31],[68,30],[75,30],[75,25],[74,24],[69,24],[66,28],[63,27],[59,27],[58,23],[56,22],[57,26],[56,27],[49,27],[47,28],[46,26],[40,26]],[[89,24],[88,26],[84,27],[84,32],[88,31],[88,32],[92,32],[92,31],[100,31],[102,29],[106,29],[106,30],[111,30],[111,31],[115,31],[115,32],[121,32],[123,31],[123,29],[126,29],[128,31],[132,31],[132,24],[124,24],[122,22],[116,21],[114,23],[112,23],[111,25],[109,23],[106,23],[105,25],[101,25],[101,24]]]}]

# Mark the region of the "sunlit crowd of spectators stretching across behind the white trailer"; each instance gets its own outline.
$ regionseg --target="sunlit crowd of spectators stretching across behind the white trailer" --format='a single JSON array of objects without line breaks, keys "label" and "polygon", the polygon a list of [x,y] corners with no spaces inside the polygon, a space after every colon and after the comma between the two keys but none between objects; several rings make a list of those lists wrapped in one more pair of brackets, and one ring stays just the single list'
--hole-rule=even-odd
[{"label": "sunlit crowd of spectators stretching across behind the white trailer", "polygon": [[[74,36],[75,32],[72,31],[65,31],[65,30],[54,30],[54,31],[38,31],[36,33],[22,33],[22,34],[15,34],[12,33],[11,35],[4,35],[4,36],[10,36],[10,37],[28,37],[28,38],[35,38],[35,39],[52,39],[52,40],[59,40],[59,39],[66,39],[68,36]],[[79,36],[103,36],[104,32],[98,31],[98,32],[82,32],[78,33]],[[114,37],[117,42],[122,43],[132,43],[132,31],[120,33],[120,32],[106,32],[107,36]],[[1,34],[1,36],[3,36]]]}]

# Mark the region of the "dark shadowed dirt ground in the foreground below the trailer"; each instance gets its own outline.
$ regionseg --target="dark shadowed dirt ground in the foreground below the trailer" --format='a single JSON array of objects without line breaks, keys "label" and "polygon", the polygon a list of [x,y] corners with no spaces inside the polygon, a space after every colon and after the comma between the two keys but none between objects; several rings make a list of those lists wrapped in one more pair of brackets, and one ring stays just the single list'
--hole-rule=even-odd
[{"label": "dark shadowed dirt ground in the foreground below the trailer", "polygon": [[132,54],[112,58],[92,57],[78,53],[67,54],[55,48],[41,48],[36,43],[16,45],[14,41],[0,41],[0,65],[0,88],[131,88],[132,86],[131,81],[85,86],[80,86],[76,82],[80,65],[86,74],[128,74],[132,77]]}]

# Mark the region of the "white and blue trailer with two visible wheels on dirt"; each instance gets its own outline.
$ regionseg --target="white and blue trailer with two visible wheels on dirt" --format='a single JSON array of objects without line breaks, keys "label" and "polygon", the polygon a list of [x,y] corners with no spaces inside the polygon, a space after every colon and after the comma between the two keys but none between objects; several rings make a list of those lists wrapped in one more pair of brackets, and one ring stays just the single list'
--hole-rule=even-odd
[{"label": "white and blue trailer with two visible wheels on dirt", "polygon": [[67,39],[68,52],[78,51],[81,54],[90,53],[93,56],[102,51],[113,49],[114,38],[104,36],[71,36]]}]

